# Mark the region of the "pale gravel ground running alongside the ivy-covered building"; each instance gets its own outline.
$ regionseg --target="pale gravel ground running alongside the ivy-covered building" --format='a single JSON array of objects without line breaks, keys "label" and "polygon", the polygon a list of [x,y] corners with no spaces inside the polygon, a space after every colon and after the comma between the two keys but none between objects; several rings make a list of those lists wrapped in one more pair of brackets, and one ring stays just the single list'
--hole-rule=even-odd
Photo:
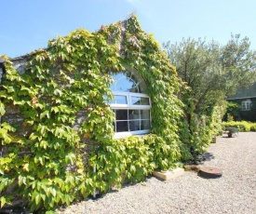
[{"label": "pale gravel ground running alongside the ivy-covered building", "polygon": [[218,137],[206,157],[201,166],[220,167],[221,178],[190,171],[169,181],[152,177],[59,213],[256,213],[256,132]]}]

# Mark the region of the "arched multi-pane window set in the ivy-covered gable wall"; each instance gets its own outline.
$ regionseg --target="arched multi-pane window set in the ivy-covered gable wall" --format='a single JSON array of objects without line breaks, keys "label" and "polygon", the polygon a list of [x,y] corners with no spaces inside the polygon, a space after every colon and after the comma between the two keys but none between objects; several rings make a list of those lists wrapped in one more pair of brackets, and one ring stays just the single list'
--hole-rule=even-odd
[{"label": "arched multi-pane window set in the ivy-covered gable wall", "polygon": [[115,137],[139,135],[149,132],[151,100],[146,85],[136,73],[112,74],[114,100],[110,105],[115,112]]}]

